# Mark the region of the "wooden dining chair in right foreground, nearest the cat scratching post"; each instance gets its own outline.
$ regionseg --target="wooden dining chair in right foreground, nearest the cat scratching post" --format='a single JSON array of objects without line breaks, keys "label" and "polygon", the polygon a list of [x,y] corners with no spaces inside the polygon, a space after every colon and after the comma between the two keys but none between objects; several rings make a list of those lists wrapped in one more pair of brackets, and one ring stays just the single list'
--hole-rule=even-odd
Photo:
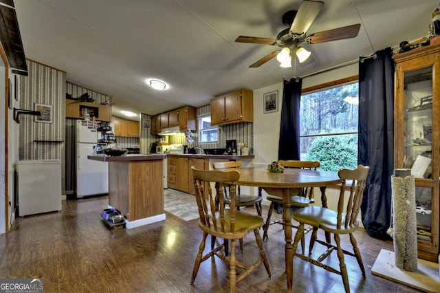
[{"label": "wooden dining chair in right foreground, nearest the cat scratching post", "polygon": [[[314,265],[318,265],[321,268],[325,268],[325,270],[328,270],[329,272],[340,274],[344,283],[345,292],[350,292],[350,287],[349,276],[344,263],[344,254],[355,257],[358,260],[358,264],[362,270],[362,276],[365,278],[364,263],[362,262],[362,256],[353,232],[359,226],[358,215],[364,194],[366,178],[369,175],[369,170],[369,166],[359,165],[357,169],[341,169],[338,172],[338,175],[342,180],[342,184],[340,186],[337,211],[329,208],[322,208],[320,206],[307,206],[305,208],[296,210],[292,215],[293,219],[300,223],[294,239],[294,256],[300,257],[300,259],[313,263]],[[349,180],[351,184],[349,187],[347,186],[347,180]],[[348,198],[345,197],[346,194],[348,194]],[[348,199],[347,204],[344,203],[344,199]],[[304,254],[296,253],[298,241],[303,238],[305,224],[313,226],[309,246],[309,257],[305,256]],[[324,230],[327,234],[334,235],[336,246],[330,243],[330,237],[326,241],[317,239],[317,230],[319,228]],[[350,237],[353,252],[342,249],[341,247],[340,235],[347,234]],[[320,257],[313,257],[311,254],[315,242],[327,247],[327,250],[323,252]],[[335,249],[338,252],[340,270],[332,268],[328,262],[323,263],[323,261],[329,257],[331,252]]]}]

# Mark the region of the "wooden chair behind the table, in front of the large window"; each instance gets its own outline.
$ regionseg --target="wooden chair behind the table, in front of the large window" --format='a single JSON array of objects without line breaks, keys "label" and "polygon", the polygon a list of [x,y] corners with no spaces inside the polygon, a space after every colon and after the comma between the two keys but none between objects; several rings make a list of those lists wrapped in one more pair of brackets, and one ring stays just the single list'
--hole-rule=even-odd
[{"label": "wooden chair behind the table, in front of the large window", "polygon": [[[284,166],[285,168],[296,168],[296,169],[309,169],[316,170],[320,166],[320,162],[318,161],[298,161],[298,160],[278,160],[278,164]],[[277,219],[276,221],[270,221],[272,217],[272,213],[274,210],[275,204],[283,204],[283,198],[278,197],[276,195],[267,195],[267,199],[270,200],[270,207],[267,213],[266,224],[264,226],[263,239],[268,239],[267,230],[269,230],[269,226],[272,224],[282,224],[284,225],[283,219]],[[302,188],[299,193],[292,196],[292,204],[296,208],[303,208],[305,206],[309,206],[309,204],[313,204],[315,202],[314,199],[314,188]],[[301,241],[301,246],[303,248],[303,252],[305,250],[305,243]]]}]

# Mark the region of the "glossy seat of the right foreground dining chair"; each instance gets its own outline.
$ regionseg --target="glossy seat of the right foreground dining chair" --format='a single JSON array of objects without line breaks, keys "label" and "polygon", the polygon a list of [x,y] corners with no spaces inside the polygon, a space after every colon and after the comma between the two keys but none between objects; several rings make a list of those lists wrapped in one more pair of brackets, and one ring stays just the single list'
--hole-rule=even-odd
[{"label": "glossy seat of the right foreground dining chair", "polygon": [[[296,210],[292,217],[295,221],[309,224],[311,226],[322,228],[327,232],[335,232],[338,234],[348,234],[358,228],[358,221],[355,224],[344,228],[338,228],[338,213],[335,210],[329,208],[322,208],[320,206],[306,206]],[[345,215],[342,215],[342,223],[345,222]]]}]

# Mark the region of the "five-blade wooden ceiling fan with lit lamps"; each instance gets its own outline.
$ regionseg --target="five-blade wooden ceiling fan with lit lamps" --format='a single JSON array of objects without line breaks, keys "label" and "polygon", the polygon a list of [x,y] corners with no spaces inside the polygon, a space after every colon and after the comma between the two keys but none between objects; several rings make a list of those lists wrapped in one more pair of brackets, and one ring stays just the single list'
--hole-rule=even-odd
[{"label": "five-blade wooden ceiling fan with lit lamps", "polygon": [[302,44],[318,44],[358,36],[360,23],[307,35],[307,30],[318,16],[322,6],[324,6],[324,2],[322,1],[304,0],[301,2],[298,11],[291,10],[286,12],[283,15],[283,23],[288,25],[289,28],[281,31],[276,36],[276,39],[259,38],[255,36],[239,36],[236,38],[235,41],[237,43],[276,45],[281,48],[270,52],[259,61],[256,61],[256,63],[250,65],[250,67],[260,67],[275,56],[281,63],[281,67],[291,67],[293,52],[300,63],[306,61],[311,55],[311,52],[301,46]]}]

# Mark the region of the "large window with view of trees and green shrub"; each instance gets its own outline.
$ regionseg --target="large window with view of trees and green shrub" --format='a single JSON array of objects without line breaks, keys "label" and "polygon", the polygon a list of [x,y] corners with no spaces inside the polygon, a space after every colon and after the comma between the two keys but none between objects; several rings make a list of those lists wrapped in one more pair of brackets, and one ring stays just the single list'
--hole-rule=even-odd
[{"label": "large window with view of trees and green shrub", "polygon": [[303,94],[300,100],[301,160],[319,161],[320,169],[327,171],[356,168],[358,108],[357,80]]}]

